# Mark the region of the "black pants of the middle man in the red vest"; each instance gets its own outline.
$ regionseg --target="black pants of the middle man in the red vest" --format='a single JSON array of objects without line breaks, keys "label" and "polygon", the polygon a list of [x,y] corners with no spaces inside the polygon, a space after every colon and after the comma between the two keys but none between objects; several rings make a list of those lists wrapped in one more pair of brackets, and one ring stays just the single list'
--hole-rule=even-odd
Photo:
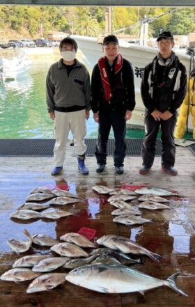
[{"label": "black pants of the middle man in the red vest", "polygon": [[111,127],[115,139],[114,166],[123,166],[126,154],[125,111],[114,111],[111,108],[99,111],[98,143],[95,148],[95,157],[98,164],[107,164],[107,143]]}]

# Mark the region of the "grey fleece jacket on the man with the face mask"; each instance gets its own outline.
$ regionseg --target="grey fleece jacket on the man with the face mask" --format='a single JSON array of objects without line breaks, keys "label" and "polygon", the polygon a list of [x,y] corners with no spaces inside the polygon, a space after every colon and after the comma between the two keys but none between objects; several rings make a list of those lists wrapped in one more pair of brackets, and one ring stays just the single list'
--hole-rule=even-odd
[{"label": "grey fleece jacket on the man with the face mask", "polygon": [[46,78],[47,109],[73,107],[75,105],[90,110],[91,85],[86,67],[75,59],[75,67],[69,76],[62,59],[51,65]]}]

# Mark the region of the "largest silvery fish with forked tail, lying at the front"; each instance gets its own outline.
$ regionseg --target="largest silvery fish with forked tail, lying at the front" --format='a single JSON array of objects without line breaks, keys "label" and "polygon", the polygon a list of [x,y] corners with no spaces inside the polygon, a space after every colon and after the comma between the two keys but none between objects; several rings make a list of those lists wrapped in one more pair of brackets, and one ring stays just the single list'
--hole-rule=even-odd
[{"label": "largest silvery fish with forked tail, lying at the front", "polygon": [[178,275],[179,273],[173,274],[164,281],[125,265],[85,265],[70,271],[65,280],[102,293],[141,292],[143,294],[146,290],[166,285],[187,297],[187,294],[176,286],[175,280]]}]

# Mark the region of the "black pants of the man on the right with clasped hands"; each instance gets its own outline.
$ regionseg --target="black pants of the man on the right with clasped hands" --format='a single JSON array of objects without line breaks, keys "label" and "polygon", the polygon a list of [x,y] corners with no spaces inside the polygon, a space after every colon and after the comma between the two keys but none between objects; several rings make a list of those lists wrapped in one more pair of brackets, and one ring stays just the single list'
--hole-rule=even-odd
[{"label": "black pants of the man on the right with clasped hands", "polygon": [[142,144],[143,165],[151,167],[155,159],[155,145],[159,127],[162,131],[162,166],[174,166],[176,159],[176,146],[173,132],[176,126],[176,114],[173,114],[169,120],[155,120],[153,116],[146,111],[145,114],[146,135]]}]

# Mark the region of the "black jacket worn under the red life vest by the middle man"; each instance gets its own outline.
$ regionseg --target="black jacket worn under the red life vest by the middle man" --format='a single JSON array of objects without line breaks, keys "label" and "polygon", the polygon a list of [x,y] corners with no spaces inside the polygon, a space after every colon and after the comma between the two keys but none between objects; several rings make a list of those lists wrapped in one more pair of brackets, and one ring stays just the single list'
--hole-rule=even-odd
[{"label": "black jacket worn under the red life vest by the middle man", "polygon": [[[112,97],[110,100],[111,108],[116,111],[133,111],[135,107],[135,93],[132,65],[129,61],[123,58],[123,67],[117,74],[114,74],[115,61],[112,67],[109,65],[108,61],[106,65],[112,92]],[[102,86],[100,68],[98,64],[96,64],[93,68],[93,73],[91,77],[91,93],[91,109],[93,113],[97,113],[99,110],[102,110],[107,107],[108,102],[104,99],[104,90]]]}]

